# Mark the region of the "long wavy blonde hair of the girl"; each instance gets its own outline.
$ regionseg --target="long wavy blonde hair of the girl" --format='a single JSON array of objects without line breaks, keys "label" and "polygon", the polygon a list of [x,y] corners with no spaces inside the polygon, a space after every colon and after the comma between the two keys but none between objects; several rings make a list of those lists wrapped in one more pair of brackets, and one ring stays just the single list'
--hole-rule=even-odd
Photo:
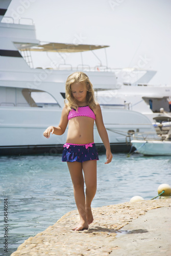
[{"label": "long wavy blonde hair of the girl", "polygon": [[66,79],[65,97],[68,102],[67,103],[65,102],[65,105],[68,106],[69,110],[71,109],[78,110],[78,104],[76,103],[76,100],[73,97],[71,92],[71,85],[73,83],[78,83],[78,82],[85,82],[87,87],[87,95],[86,95],[87,103],[91,109],[94,108],[97,101],[95,99],[93,86],[88,76],[84,72],[74,72],[71,75],[69,75],[68,78]]}]

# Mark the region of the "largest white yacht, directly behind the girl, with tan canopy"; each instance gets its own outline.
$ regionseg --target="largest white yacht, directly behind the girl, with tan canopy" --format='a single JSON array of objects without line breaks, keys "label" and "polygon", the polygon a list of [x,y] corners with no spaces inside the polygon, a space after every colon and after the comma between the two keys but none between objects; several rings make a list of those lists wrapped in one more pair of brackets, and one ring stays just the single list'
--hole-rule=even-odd
[{"label": "largest white yacht, directly behind the girl, with tan canopy", "polygon": [[[35,67],[32,53],[74,54],[95,51],[107,46],[42,43],[36,38],[34,24],[15,24],[4,15],[10,1],[1,1],[0,20],[0,155],[56,154],[62,151],[66,134],[43,137],[49,125],[58,125],[65,98],[65,81],[77,70],[89,76],[95,91],[116,89],[117,79],[107,67],[72,68],[52,59],[47,67]],[[6,22],[8,20],[8,23]],[[20,20],[21,23],[21,20]],[[62,55],[61,55],[62,56]],[[106,109],[103,118],[113,152],[129,151],[132,134],[155,131],[151,121],[141,113],[127,109]],[[103,150],[103,143],[94,125],[94,141]]]}]

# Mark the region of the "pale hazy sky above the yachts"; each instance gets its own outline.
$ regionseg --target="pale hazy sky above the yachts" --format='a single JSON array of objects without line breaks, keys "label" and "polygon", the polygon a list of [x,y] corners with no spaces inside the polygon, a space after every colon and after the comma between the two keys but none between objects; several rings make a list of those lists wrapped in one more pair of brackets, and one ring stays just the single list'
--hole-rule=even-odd
[{"label": "pale hazy sky above the yachts", "polygon": [[170,10],[170,0],[12,0],[6,16],[33,18],[40,41],[109,45],[109,67],[156,70],[151,83],[171,85]]}]

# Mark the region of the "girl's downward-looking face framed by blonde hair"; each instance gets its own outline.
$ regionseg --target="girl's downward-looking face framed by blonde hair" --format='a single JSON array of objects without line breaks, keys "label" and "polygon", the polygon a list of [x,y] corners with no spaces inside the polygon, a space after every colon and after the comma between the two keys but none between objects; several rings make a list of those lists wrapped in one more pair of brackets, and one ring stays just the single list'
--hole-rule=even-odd
[{"label": "girl's downward-looking face framed by blonde hair", "polygon": [[72,96],[77,102],[86,102],[87,87],[85,82],[76,82],[71,84]]}]

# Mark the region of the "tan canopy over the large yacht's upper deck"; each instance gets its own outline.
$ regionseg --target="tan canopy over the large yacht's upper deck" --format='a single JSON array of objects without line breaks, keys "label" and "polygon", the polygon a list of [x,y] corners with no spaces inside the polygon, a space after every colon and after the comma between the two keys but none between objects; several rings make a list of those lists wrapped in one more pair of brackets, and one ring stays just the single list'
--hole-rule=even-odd
[{"label": "tan canopy over the large yacht's upper deck", "polygon": [[85,52],[97,49],[104,49],[109,46],[99,45],[75,45],[75,44],[62,44],[58,42],[47,42],[44,44],[29,44],[14,42],[18,50],[20,51],[38,51],[38,52]]}]

